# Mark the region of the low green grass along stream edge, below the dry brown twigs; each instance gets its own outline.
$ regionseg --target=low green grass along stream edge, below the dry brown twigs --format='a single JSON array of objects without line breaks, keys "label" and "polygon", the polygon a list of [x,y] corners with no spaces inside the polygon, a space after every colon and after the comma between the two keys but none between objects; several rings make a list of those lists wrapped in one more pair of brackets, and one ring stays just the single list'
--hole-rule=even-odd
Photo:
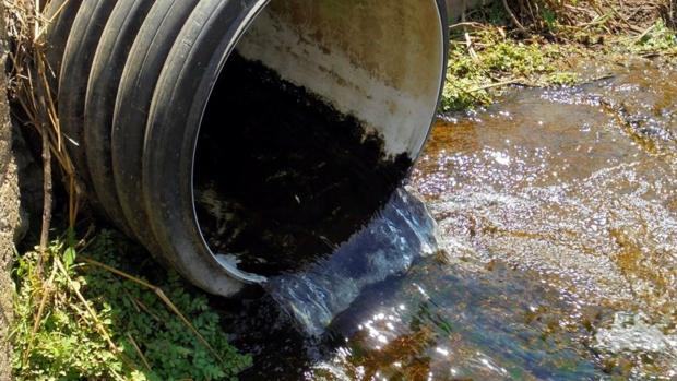
[{"label": "low green grass along stream edge, below the dry brown twigs", "polygon": [[575,72],[577,61],[677,55],[676,33],[661,19],[643,33],[636,28],[613,34],[611,24],[618,24],[613,13],[582,26],[560,22],[558,13],[548,8],[542,13],[533,24],[526,24],[526,31],[515,33],[502,5],[496,2],[479,10],[471,23],[453,27],[440,111],[489,105],[511,84],[580,84],[583,79]]}]

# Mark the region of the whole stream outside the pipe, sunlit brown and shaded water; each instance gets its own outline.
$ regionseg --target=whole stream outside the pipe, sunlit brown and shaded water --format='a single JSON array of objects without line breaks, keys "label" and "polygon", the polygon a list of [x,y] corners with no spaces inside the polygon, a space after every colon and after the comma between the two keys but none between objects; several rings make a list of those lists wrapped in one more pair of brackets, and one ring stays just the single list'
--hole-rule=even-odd
[{"label": "whole stream outside the pipe, sunlit brown and shaded water", "polygon": [[[301,334],[289,305],[361,278],[331,271],[332,260],[365,269],[379,248],[396,250],[387,233],[367,224],[353,237],[365,242],[316,262],[330,284],[283,275],[312,293],[283,282],[218,301],[235,343],[254,354],[242,379],[675,379],[677,68],[638,60],[581,73],[608,78],[511,90],[436,126],[408,181],[426,207],[395,197],[370,222],[435,237],[437,250],[402,247],[412,261],[365,284],[322,335]],[[392,219],[402,207],[407,217]],[[429,216],[435,236],[435,225],[407,223]]]}]

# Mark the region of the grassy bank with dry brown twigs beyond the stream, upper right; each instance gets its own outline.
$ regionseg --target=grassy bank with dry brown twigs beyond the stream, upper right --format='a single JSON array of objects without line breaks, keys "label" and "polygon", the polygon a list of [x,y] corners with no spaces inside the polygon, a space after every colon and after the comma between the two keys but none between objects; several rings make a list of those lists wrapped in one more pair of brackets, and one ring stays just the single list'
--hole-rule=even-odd
[{"label": "grassy bank with dry brown twigs beyond the stream, upper right", "polygon": [[589,81],[575,70],[585,60],[675,56],[674,13],[668,0],[496,1],[452,25],[440,110],[486,106],[509,85]]}]

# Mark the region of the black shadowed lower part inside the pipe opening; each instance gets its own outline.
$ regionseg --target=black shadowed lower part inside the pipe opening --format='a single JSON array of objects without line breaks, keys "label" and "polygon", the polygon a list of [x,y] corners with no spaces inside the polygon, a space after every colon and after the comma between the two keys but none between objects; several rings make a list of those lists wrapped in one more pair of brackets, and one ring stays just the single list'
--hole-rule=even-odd
[{"label": "black shadowed lower part inside the pipe opening", "polygon": [[301,270],[367,224],[412,162],[258,62],[234,55],[224,73],[197,151],[203,234],[245,271]]}]

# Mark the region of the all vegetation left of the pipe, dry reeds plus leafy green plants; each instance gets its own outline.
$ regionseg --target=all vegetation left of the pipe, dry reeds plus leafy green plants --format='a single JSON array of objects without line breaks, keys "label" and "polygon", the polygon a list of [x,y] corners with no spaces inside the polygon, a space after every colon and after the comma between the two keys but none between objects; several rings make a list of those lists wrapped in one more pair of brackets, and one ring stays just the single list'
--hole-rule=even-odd
[{"label": "all vegetation left of the pipe, dry reeds plus leafy green plants", "polygon": [[[8,92],[14,116],[41,138],[45,204],[52,203],[52,164],[68,191],[68,200],[58,200],[57,224],[46,210],[39,238],[32,240],[39,245],[16,255],[11,329],[16,380],[235,379],[251,358],[228,344],[202,291],[119,234],[93,236],[92,228],[75,235],[84,187],[76,184],[55,94],[45,85],[48,20],[31,1],[4,5],[12,43]],[[49,242],[55,230],[67,234]]]}]

